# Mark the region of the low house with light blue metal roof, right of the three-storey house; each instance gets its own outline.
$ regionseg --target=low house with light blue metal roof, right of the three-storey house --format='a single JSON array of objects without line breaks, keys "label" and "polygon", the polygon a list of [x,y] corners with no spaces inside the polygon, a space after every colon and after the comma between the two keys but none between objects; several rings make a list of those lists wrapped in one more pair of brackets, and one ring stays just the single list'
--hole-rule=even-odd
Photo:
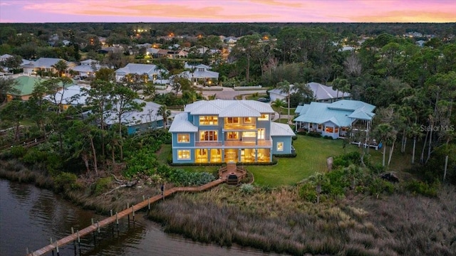
[{"label": "low house with light blue metal roof, right of the three-storey house", "polygon": [[321,136],[346,137],[348,129],[368,131],[375,106],[358,100],[339,100],[333,103],[311,102],[298,106],[294,119],[296,131],[319,132]]}]

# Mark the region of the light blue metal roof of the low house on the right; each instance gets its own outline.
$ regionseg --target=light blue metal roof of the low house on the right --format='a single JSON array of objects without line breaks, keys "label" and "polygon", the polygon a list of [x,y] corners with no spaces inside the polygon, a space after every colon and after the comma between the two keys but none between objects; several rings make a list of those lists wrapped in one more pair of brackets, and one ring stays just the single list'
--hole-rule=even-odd
[{"label": "light blue metal roof of the low house on the right", "polygon": [[333,103],[311,102],[301,108],[295,122],[323,124],[332,122],[338,127],[349,127],[355,119],[372,120],[375,106],[358,100],[340,100]]}]

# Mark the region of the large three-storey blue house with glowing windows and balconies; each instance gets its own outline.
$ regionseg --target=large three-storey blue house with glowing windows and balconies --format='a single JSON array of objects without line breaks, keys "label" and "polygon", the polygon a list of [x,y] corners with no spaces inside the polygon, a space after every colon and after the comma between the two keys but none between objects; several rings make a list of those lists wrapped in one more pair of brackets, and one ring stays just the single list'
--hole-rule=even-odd
[{"label": "large three-storey blue house with glowing windows and balconies", "polygon": [[173,163],[271,162],[291,154],[293,130],[271,122],[269,104],[202,100],[185,106],[171,124]]}]

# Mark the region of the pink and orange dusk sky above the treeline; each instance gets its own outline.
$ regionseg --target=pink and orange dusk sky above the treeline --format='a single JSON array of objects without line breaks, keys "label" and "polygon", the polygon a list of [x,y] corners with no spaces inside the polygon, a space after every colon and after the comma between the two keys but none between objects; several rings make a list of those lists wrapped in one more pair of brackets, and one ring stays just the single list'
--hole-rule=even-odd
[{"label": "pink and orange dusk sky above the treeline", "polygon": [[0,23],[456,22],[455,0],[0,0]]}]

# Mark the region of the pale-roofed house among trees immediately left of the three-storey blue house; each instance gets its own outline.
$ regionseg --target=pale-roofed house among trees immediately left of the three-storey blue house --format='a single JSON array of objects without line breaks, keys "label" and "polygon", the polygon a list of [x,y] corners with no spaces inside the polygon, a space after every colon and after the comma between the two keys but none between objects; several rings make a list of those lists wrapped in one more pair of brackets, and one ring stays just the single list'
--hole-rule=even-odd
[{"label": "pale-roofed house among trees immediately left of the three-storey blue house", "polygon": [[[128,127],[128,134],[135,134],[136,132],[147,131],[147,129],[164,127],[165,122],[163,122],[163,117],[161,114],[158,114],[158,110],[162,105],[155,102],[145,102],[143,100],[135,101],[138,103],[145,103],[145,106],[142,107],[142,111],[133,111],[123,114],[121,122]],[[174,112],[171,112],[171,115],[167,120],[167,127],[170,127],[174,117]],[[115,112],[108,112],[107,117],[105,117],[105,122],[108,126],[118,124],[118,117]]]}]

